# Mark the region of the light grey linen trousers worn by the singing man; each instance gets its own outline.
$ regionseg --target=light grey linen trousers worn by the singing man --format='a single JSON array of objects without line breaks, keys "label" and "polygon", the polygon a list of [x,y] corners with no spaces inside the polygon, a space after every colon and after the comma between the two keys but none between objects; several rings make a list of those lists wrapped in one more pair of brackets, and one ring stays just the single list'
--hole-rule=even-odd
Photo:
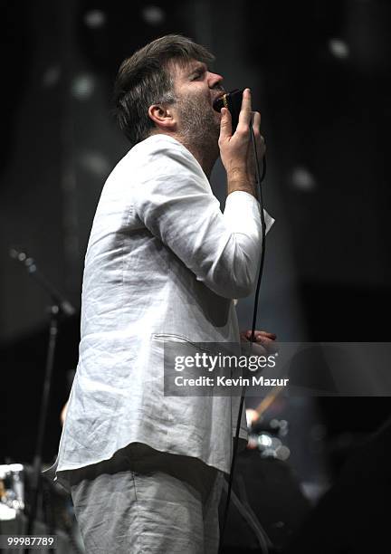
[{"label": "light grey linen trousers worn by the singing man", "polygon": [[144,444],[74,470],[71,493],[87,554],[215,554],[223,474]]}]

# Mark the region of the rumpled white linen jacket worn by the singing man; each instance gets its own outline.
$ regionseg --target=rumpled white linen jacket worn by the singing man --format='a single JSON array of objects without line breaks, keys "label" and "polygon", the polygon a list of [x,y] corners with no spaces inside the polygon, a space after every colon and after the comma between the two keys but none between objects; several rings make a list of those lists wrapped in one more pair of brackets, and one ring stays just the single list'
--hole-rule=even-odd
[{"label": "rumpled white linen jacket worn by the singing man", "polygon": [[51,468],[59,481],[131,443],[229,473],[239,398],[164,396],[163,345],[239,342],[233,299],[253,291],[261,244],[258,201],[234,192],[223,214],[176,139],[149,137],[119,161],[85,258],[80,357]]}]

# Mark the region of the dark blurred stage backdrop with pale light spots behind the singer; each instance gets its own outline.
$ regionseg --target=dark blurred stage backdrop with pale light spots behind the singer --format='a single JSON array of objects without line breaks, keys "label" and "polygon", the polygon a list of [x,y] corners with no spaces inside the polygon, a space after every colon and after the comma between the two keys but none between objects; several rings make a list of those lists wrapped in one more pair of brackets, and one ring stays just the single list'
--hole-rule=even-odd
[{"label": "dark blurred stage backdrop with pale light spots behind the singer", "polygon": [[[389,341],[390,24],[386,0],[3,3],[0,463],[32,462],[48,339],[49,299],[9,249],[30,253],[77,308],[55,358],[43,453],[51,463],[78,359],[91,222],[129,148],[110,114],[112,82],[125,57],[162,34],[207,45],[226,90],[250,86],[262,112],[263,190],[276,223],[258,328],[283,341]],[[224,205],[219,162],[212,185]],[[252,305],[239,302],[243,329]],[[390,409],[381,397],[307,398],[274,412],[290,423],[288,463],[308,492],[338,481]]]}]

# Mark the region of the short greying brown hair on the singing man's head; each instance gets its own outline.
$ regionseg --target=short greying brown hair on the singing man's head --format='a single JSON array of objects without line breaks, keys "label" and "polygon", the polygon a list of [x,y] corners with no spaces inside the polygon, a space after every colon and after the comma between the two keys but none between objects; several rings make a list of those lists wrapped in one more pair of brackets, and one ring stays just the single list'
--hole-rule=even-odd
[{"label": "short greying brown hair on the singing man's head", "polygon": [[204,46],[186,36],[167,34],[124,60],[114,86],[114,113],[119,128],[131,143],[147,139],[155,124],[148,116],[152,104],[176,101],[169,63],[190,60],[208,63],[215,60]]}]

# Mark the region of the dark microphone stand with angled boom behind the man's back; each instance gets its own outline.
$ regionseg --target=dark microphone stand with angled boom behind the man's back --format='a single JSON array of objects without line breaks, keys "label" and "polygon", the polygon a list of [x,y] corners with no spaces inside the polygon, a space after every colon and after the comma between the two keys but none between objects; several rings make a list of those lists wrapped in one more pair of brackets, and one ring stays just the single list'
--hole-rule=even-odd
[{"label": "dark microphone stand with angled boom behind the man's back", "polygon": [[[27,272],[32,275],[40,285],[49,292],[52,298],[52,304],[49,306],[50,324],[49,324],[49,342],[46,354],[46,368],[43,381],[43,397],[41,402],[41,412],[38,426],[38,436],[35,446],[35,454],[33,458],[33,477],[31,483],[31,504],[27,520],[26,534],[33,535],[34,522],[38,507],[38,493],[40,490],[41,472],[42,472],[42,453],[43,453],[43,438],[45,434],[46,421],[48,415],[49,398],[52,385],[52,369],[54,362],[54,352],[57,345],[58,323],[61,313],[71,316],[75,313],[75,309],[69,301],[66,301],[62,295],[52,286],[52,283],[47,281],[43,273],[39,272],[33,258],[27,256],[26,253],[20,252],[15,248],[10,250],[10,256],[18,262],[24,264]],[[24,554],[28,554],[30,549],[24,548]],[[50,549],[50,551],[54,551]]]}]

